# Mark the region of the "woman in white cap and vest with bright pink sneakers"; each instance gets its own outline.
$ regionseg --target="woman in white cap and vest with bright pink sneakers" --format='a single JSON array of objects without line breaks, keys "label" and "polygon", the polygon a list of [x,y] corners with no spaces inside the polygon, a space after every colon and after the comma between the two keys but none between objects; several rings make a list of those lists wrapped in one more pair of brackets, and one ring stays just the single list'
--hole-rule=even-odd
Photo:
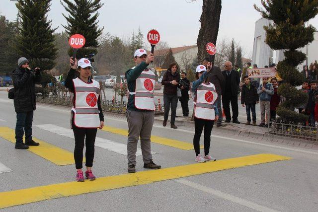
[{"label": "woman in white cap and vest with bright pink sneakers", "polygon": [[[71,70],[65,81],[65,86],[71,92],[73,102],[72,108],[72,129],[75,137],[74,159],[77,169],[76,180],[84,181],[82,168],[84,140],[86,145],[86,171],[85,177],[88,180],[95,180],[91,171],[94,159],[95,138],[97,128],[104,126],[104,115],[100,104],[99,83],[89,76],[91,65],[88,59],[82,58],[79,61],[73,57],[70,59]],[[75,77],[79,71],[79,77]],[[86,138],[85,138],[86,137]]]}]

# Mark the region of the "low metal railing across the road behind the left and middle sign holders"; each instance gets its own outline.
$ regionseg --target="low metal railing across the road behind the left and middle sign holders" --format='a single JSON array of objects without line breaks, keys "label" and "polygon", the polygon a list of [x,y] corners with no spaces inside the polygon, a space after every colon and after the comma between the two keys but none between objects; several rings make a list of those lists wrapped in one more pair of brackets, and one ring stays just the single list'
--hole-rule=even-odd
[{"label": "low metal railing across the road behind the left and middle sign holders", "polygon": [[[57,96],[57,95],[48,95],[48,96],[37,96],[36,100],[38,102],[46,103],[46,104],[55,104],[55,105],[64,105],[64,106],[72,106],[72,101],[70,96]],[[163,115],[164,106],[161,104],[155,104],[155,116]],[[127,103],[125,101],[113,101],[113,100],[102,100],[101,107],[104,112],[111,113],[120,113],[125,114]]]}]

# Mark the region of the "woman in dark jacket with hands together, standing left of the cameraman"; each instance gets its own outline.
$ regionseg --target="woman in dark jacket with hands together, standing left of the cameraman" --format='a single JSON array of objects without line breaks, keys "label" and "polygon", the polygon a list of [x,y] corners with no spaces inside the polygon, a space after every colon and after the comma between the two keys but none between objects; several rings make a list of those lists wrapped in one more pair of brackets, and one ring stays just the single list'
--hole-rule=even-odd
[{"label": "woman in dark jacket with hands together, standing left of the cameraman", "polygon": [[175,115],[178,105],[178,91],[180,88],[180,73],[176,63],[171,63],[168,70],[164,73],[161,84],[163,87],[163,104],[164,104],[164,116],[163,116],[163,127],[167,125],[167,120],[169,116],[169,110],[171,105],[171,121],[170,127],[177,129],[178,127],[174,125]]}]

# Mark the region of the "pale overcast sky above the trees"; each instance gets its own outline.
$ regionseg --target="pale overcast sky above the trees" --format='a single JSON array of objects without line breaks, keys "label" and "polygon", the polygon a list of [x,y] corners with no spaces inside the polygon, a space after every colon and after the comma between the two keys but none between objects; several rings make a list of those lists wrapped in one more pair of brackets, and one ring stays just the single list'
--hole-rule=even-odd
[{"label": "pale overcast sky above the trees", "polygon": [[[133,30],[141,28],[144,34],[150,29],[157,29],[161,41],[166,41],[170,47],[195,45],[200,29],[202,0],[101,0],[103,7],[99,10],[99,25],[104,32],[118,37],[128,37]],[[0,13],[7,19],[16,17],[15,2],[0,0]],[[260,14],[253,4],[260,0],[222,0],[222,11],[218,40],[232,37],[252,52],[255,21]],[[66,10],[60,0],[52,0],[49,19],[52,26],[59,27],[57,32],[64,30],[61,24],[66,24],[62,13]],[[318,28],[318,17],[310,21]],[[145,36],[146,37],[146,36]]]}]

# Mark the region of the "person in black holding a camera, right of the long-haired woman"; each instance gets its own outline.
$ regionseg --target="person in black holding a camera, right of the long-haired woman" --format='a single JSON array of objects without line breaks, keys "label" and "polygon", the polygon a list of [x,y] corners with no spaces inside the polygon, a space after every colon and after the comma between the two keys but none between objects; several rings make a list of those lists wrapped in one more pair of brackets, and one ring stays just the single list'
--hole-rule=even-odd
[{"label": "person in black holding a camera, right of the long-haired woman", "polygon": [[179,82],[179,86],[181,88],[181,97],[179,97],[179,101],[182,107],[183,116],[189,116],[189,90],[190,90],[190,81],[187,79],[187,73],[181,72],[181,79]]}]

